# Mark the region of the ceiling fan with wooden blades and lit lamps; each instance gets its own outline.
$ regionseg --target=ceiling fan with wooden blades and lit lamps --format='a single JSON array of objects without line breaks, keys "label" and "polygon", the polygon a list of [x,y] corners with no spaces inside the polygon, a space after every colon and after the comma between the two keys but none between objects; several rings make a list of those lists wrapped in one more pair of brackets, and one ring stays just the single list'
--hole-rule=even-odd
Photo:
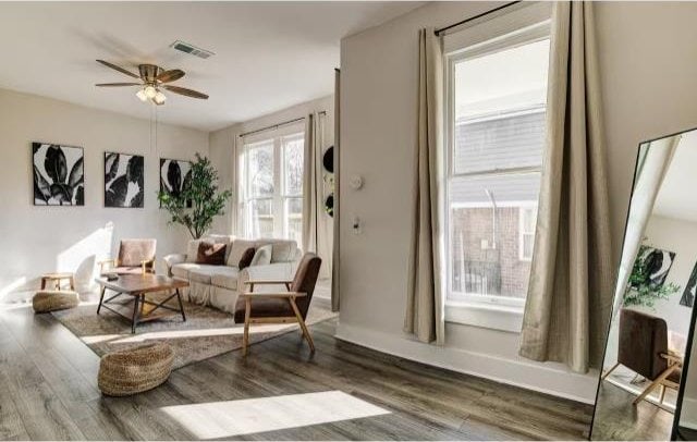
[{"label": "ceiling fan with wooden blades and lit lamps", "polygon": [[119,71],[122,74],[129,75],[133,78],[139,79],[139,83],[99,83],[95,86],[99,87],[119,87],[119,86],[138,86],[139,89],[135,94],[136,97],[140,99],[140,101],[150,100],[157,106],[164,105],[164,100],[167,100],[167,96],[162,93],[161,89],[169,90],[174,94],[183,95],[191,98],[198,98],[201,100],[207,100],[208,96],[206,94],[201,94],[199,91],[187,89],[185,87],[173,86],[168,83],[175,82],[184,76],[184,71],[180,69],[172,69],[169,71],[164,71],[160,66],[156,66],[155,64],[139,64],[138,73],[139,75],[134,74],[131,71],[127,71],[121,66],[117,66],[115,64],[109,63],[108,61],[97,60],[97,62],[103,64],[105,66],[111,67],[114,71]]}]

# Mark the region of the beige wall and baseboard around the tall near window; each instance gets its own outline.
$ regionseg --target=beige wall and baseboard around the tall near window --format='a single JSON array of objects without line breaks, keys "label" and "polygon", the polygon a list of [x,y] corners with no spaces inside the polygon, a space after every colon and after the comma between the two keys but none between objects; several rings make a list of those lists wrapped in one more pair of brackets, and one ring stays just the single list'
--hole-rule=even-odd
[{"label": "beige wall and baseboard around the tall near window", "polygon": [[[518,334],[449,324],[436,347],[404,335],[413,159],[416,145],[417,29],[489,10],[491,2],[429,3],[342,40],[341,174],[365,186],[341,188],[339,336],[460,371],[585,402],[597,373],[517,356]],[[598,3],[610,197],[619,259],[636,147],[697,125],[697,4]],[[360,235],[352,232],[354,217]]]}]

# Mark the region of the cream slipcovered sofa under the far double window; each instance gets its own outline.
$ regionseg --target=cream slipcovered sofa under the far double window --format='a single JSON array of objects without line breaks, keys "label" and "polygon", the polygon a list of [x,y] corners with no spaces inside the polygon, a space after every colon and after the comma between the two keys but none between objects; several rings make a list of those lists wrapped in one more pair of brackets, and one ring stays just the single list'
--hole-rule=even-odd
[{"label": "cream slipcovered sofa under the far double window", "polygon": [[[196,263],[198,244],[201,241],[227,244],[224,266]],[[243,270],[237,268],[242,254],[248,247],[258,249],[266,245],[271,245],[272,250],[269,263],[266,263],[266,259],[264,263]],[[295,274],[301,257],[297,244],[291,240],[242,240],[228,235],[209,235],[189,241],[186,254],[168,255],[164,262],[170,277],[188,281],[189,286],[183,291],[183,295],[189,302],[234,314],[237,295],[245,290],[245,281],[290,280]]]}]

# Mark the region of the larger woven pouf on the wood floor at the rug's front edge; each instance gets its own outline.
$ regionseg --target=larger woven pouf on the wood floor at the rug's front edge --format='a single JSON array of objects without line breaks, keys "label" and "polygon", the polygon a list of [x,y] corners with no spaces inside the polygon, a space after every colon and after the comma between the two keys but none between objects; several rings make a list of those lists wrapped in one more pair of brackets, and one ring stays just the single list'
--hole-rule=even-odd
[{"label": "larger woven pouf on the wood floor at the rug's front edge", "polygon": [[109,396],[129,396],[151,390],[172,372],[174,351],[156,342],[101,357],[97,384]]}]

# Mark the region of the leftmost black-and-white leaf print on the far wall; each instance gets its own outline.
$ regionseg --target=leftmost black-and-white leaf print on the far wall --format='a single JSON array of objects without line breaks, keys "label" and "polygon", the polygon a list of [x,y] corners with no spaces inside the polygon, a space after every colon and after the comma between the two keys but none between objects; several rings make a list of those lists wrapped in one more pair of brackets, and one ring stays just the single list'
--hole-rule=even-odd
[{"label": "leftmost black-and-white leaf print on the far wall", "polygon": [[32,143],[35,206],[84,206],[82,147]]}]

